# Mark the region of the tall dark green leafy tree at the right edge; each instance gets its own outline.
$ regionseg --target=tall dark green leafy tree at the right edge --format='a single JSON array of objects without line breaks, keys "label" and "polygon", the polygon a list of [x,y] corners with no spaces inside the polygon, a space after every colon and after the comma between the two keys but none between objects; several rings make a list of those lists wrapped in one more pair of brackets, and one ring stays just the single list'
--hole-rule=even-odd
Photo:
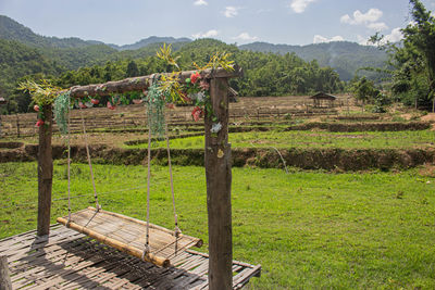
[{"label": "tall dark green leafy tree at the right edge", "polygon": [[412,22],[402,29],[401,43],[383,43],[378,35],[372,41],[389,53],[395,98],[430,109],[435,98],[435,18],[420,0],[410,0],[410,4]]}]

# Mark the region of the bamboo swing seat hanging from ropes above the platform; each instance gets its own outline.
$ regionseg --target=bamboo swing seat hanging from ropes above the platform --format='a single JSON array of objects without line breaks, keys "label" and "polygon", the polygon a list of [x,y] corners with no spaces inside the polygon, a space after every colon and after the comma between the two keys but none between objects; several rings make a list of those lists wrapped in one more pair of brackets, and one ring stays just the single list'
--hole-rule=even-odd
[{"label": "bamboo swing seat hanging from ropes above the platform", "polygon": [[174,231],[149,224],[150,251],[144,254],[146,222],[103,210],[97,212],[95,207],[72,213],[70,223],[69,216],[58,217],[58,223],[162,267],[170,266],[177,253],[202,245],[201,239],[183,234],[176,238]]}]

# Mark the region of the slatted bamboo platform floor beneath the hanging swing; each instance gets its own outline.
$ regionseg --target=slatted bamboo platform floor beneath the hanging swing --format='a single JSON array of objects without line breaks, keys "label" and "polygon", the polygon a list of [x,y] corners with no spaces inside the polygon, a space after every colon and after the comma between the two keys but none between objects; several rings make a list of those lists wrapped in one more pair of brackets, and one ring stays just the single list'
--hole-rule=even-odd
[{"label": "slatted bamboo platform floor beneath the hanging swing", "polygon": [[[0,240],[13,289],[208,289],[207,254],[186,250],[158,267],[87,236],[53,225],[50,236],[36,230]],[[233,286],[241,289],[261,266],[233,262]]]}]

